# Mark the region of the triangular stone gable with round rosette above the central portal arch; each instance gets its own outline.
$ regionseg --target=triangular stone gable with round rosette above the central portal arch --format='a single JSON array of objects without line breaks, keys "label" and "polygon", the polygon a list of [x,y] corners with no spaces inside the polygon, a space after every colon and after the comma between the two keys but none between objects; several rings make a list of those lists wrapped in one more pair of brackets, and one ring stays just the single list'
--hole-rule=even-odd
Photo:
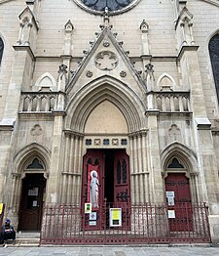
[{"label": "triangular stone gable with round rosette above the central portal arch", "polygon": [[103,76],[118,79],[137,95],[144,95],[145,84],[131,64],[123,42],[117,40],[117,33],[112,32],[112,27],[100,27],[101,32],[95,33],[96,41],[90,42],[89,51],[84,51],[85,57],[67,85],[68,97],[71,98],[83,86]]}]

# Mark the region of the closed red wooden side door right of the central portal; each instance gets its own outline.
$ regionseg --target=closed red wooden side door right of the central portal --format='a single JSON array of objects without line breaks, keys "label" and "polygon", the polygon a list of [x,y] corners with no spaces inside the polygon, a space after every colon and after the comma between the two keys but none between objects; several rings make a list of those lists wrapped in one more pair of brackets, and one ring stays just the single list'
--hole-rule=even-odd
[{"label": "closed red wooden side door right of the central portal", "polygon": [[169,218],[171,232],[192,231],[193,214],[189,179],[184,173],[171,173],[165,178],[165,192],[174,194],[168,210],[175,213],[175,218]]}]

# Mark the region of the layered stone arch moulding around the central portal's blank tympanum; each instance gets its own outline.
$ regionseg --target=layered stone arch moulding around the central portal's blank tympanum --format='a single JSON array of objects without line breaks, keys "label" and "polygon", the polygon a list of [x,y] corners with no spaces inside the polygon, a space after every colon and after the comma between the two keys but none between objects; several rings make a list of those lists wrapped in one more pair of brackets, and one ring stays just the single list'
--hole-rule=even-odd
[{"label": "layered stone arch moulding around the central portal's blank tympanum", "polygon": [[126,84],[110,76],[91,81],[72,97],[66,107],[65,127],[83,133],[91,111],[104,101],[112,103],[122,112],[129,133],[146,127],[146,108],[142,100]]}]

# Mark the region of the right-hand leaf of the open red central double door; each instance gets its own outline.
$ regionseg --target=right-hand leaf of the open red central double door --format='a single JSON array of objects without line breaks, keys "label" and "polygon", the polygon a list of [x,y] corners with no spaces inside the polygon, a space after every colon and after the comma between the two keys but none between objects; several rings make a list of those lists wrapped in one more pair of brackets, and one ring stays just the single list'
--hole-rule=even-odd
[{"label": "right-hand leaf of the open red central double door", "polygon": [[122,226],[130,227],[129,161],[125,149],[114,154],[114,207],[122,208]]}]

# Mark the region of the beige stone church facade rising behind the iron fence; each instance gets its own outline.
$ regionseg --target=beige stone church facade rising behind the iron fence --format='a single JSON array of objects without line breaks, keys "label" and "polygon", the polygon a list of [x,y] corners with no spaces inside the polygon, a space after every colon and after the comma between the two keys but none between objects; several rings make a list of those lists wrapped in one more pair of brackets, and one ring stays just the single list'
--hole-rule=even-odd
[{"label": "beige stone church facade rising behind the iron fence", "polygon": [[111,3],[0,0],[5,214],[39,230],[43,203],[90,202],[90,167],[98,207],[164,203],[180,177],[216,242],[219,2]]}]

